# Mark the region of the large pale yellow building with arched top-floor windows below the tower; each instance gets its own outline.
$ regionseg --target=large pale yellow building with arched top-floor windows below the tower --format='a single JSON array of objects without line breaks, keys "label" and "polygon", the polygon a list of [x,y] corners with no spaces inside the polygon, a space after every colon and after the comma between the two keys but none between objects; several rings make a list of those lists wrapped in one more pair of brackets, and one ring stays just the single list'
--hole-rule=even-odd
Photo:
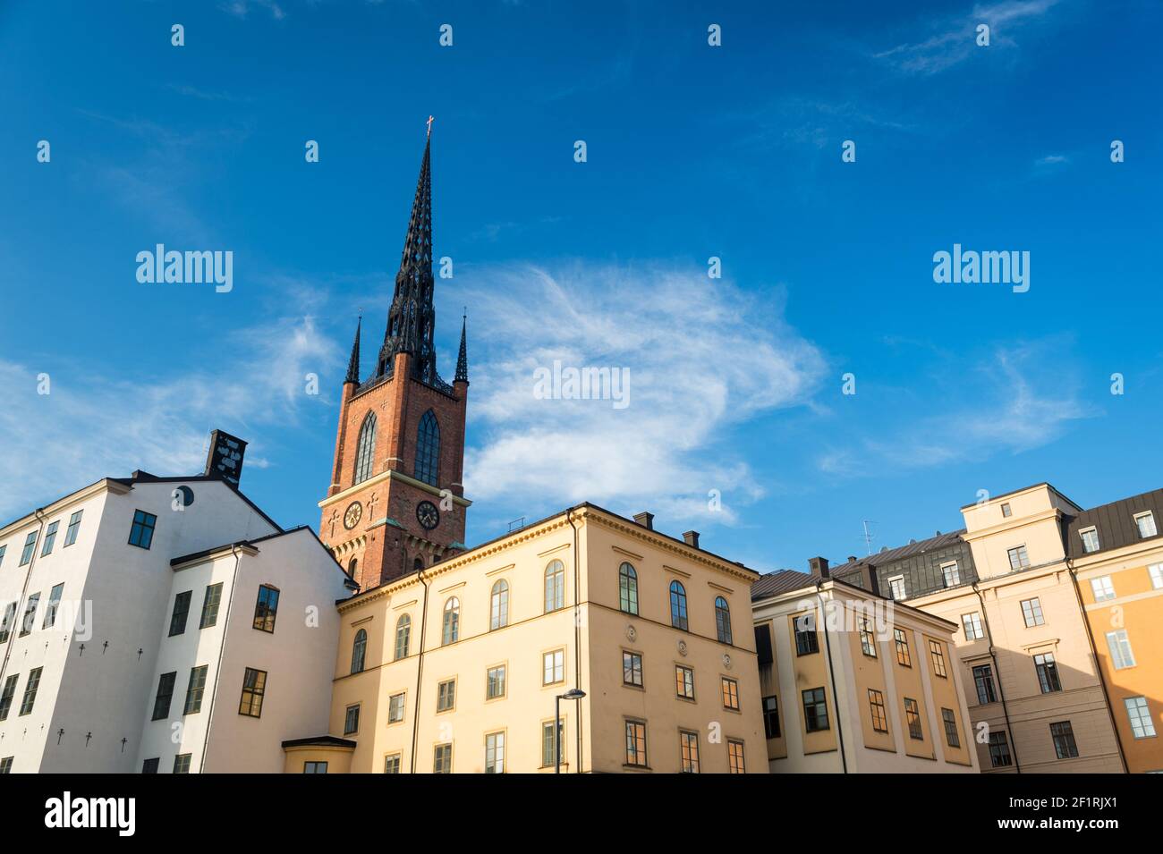
[{"label": "large pale yellow building with arched top-floor windows below the tower", "polygon": [[559,706],[563,773],[765,773],[757,577],[580,504],[394,579],[338,603],[330,733],[286,770],[554,773]]}]

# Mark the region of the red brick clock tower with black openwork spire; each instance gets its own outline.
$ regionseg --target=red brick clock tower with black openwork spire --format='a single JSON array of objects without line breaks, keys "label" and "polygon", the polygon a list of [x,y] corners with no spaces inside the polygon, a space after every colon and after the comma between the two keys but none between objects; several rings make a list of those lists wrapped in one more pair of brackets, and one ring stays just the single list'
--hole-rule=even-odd
[{"label": "red brick clock tower with black openwork spire", "polygon": [[319,502],[320,539],[364,590],[465,548],[465,323],[456,378],[436,373],[433,332],[431,124],[404,239],[384,343],[359,376],[356,324],[340,404],[335,461]]}]

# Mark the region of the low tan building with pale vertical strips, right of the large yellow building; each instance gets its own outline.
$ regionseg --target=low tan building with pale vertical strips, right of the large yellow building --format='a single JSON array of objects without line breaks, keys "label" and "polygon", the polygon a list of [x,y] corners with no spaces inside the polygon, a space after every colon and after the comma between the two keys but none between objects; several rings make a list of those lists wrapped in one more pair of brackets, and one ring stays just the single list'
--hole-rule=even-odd
[{"label": "low tan building with pale vertical strips, right of the large yellow building", "polygon": [[752,588],[773,773],[976,773],[956,624],[793,570]]}]

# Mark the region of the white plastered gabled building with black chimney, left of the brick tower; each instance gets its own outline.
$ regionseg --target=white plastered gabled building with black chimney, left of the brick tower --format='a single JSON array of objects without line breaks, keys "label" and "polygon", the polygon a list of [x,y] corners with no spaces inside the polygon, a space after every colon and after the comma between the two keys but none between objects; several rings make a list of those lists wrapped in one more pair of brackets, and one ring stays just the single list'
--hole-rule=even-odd
[{"label": "white plastered gabled building with black chimney, left of the brick tower", "polygon": [[283,739],[326,729],[347,576],[238,491],[241,453],[233,474],[213,461],[106,478],[0,528],[0,773],[280,772]]}]

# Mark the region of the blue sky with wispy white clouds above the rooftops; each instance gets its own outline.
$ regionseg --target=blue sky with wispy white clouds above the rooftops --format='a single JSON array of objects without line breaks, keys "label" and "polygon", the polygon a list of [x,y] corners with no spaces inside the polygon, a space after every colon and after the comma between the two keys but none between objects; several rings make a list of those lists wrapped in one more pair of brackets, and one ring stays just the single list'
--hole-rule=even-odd
[{"label": "blue sky with wispy white clouds above the rooftops", "polygon": [[[980,489],[1160,487],[1161,7],[785,6],[3,3],[0,515],[197,471],[220,426],[244,491],[317,526],[429,114],[470,544],[591,500],[802,568],[864,519],[873,547],[958,528]],[[138,284],[156,243],[233,251],[234,289]],[[1029,292],[935,284],[954,243],[1028,251]],[[534,399],[554,359],[629,368],[630,404]]]}]

